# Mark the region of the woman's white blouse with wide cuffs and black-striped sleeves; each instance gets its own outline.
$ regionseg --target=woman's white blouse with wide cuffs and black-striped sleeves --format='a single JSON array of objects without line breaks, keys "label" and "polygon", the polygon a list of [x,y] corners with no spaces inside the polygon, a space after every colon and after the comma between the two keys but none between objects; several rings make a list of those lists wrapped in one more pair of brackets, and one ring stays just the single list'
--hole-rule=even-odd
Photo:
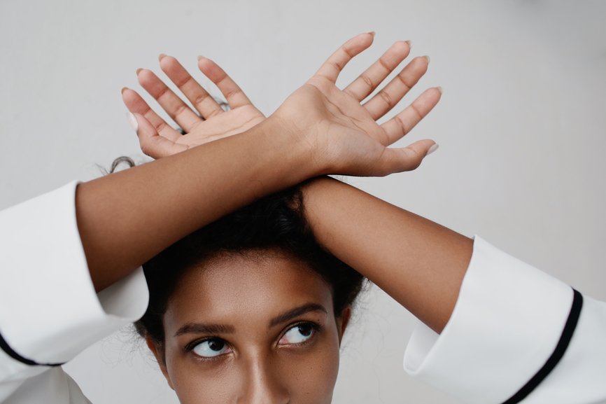
[{"label": "woman's white blouse with wide cuffs and black-striped sleeves", "polygon": [[[0,211],[0,403],[90,403],[60,366],[145,312],[141,268],[95,293],[76,183]],[[606,401],[606,303],[475,237],[449,323],[404,369],[464,403]]]}]

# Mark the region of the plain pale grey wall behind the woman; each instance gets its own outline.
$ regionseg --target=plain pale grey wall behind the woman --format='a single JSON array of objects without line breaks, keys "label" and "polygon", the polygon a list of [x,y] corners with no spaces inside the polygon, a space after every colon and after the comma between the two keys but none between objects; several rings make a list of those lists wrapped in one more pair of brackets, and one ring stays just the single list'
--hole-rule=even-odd
[{"label": "plain pale grey wall behind the woman", "polygon": [[[118,155],[144,160],[120,88],[138,88],[138,67],[159,71],[159,53],[192,71],[211,57],[269,114],[375,30],[339,83],[410,39],[432,59],[397,110],[429,86],[444,96],[399,144],[440,148],[416,172],[347,181],[605,300],[605,20],[603,1],[0,1],[0,208],[99,176]],[[414,324],[369,291],[334,403],[456,403],[402,370]],[[66,368],[93,403],[177,403],[128,333]]]}]

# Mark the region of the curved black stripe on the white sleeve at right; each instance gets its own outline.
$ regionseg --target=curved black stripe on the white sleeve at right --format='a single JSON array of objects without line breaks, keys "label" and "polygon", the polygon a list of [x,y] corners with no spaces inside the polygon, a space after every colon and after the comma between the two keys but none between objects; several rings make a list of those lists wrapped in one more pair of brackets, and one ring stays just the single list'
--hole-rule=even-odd
[{"label": "curved black stripe on the white sleeve at right", "polygon": [[545,377],[551,373],[551,370],[554,370],[558,362],[564,356],[568,344],[570,344],[570,340],[572,339],[572,334],[575,333],[575,328],[577,328],[577,323],[579,322],[579,316],[581,315],[581,309],[583,307],[583,295],[575,289],[572,289],[572,291],[574,292],[574,297],[572,298],[570,314],[568,314],[568,320],[566,320],[566,325],[564,326],[564,330],[562,331],[562,335],[556,345],[554,353],[549,356],[549,359],[547,359],[547,362],[545,362],[537,374],[519,389],[512,398],[509,398],[509,400],[505,401],[503,404],[516,404],[526,398],[526,396],[532,393]]}]

